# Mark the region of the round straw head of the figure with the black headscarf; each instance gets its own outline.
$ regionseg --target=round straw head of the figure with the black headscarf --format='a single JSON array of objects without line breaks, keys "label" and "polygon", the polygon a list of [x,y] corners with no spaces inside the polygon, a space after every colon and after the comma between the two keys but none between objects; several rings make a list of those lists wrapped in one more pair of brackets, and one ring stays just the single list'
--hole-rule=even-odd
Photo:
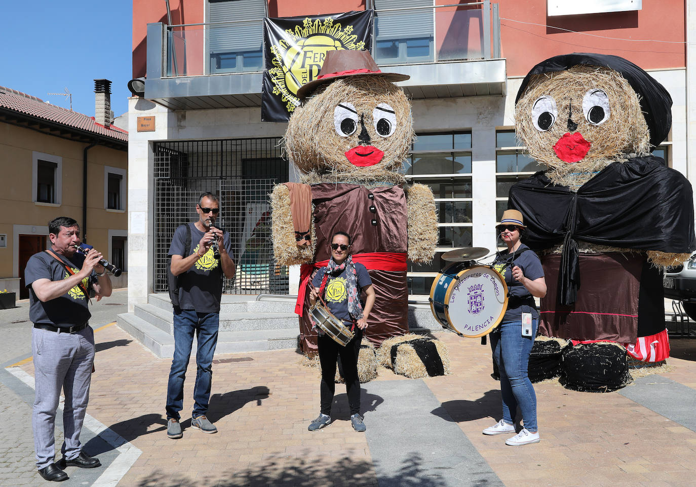
[{"label": "round straw head of the figure with the black headscarf", "polygon": [[[591,88],[604,91],[612,107],[610,117],[601,125],[592,125],[583,116],[583,98]],[[551,95],[558,110],[556,122],[546,132],[537,130],[531,118],[532,105],[541,95]],[[567,164],[556,156],[553,142],[567,132],[565,122],[571,113],[578,123],[577,131],[592,146],[583,160]],[[592,65],[533,76],[515,105],[515,130],[529,155],[549,167],[548,178],[571,190],[577,190],[612,162],[650,152],[649,130],[638,95],[618,72]]]}]

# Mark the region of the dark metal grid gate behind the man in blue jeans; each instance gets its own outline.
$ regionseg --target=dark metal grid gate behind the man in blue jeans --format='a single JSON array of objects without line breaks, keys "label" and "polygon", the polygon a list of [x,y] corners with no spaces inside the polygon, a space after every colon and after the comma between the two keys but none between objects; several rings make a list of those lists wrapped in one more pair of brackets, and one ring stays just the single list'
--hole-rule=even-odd
[{"label": "dark metal grid gate behind the man in blue jeans", "polygon": [[237,264],[223,293],[287,294],[287,268],[274,262],[271,243],[270,194],[288,178],[280,139],[157,142],[153,150],[155,292],[168,291],[167,254],[175,229],[195,222],[198,197],[212,192],[220,196],[217,223],[230,233]]}]

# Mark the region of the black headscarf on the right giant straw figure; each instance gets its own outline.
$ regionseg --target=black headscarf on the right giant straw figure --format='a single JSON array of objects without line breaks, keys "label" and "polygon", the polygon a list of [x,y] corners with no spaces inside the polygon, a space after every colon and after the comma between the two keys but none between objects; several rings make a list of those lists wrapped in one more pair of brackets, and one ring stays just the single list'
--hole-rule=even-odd
[{"label": "black headscarf on the right giant straw figure", "polygon": [[626,59],[619,56],[574,52],[573,54],[553,56],[546,59],[546,61],[541,61],[522,80],[515,103],[522,98],[533,75],[540,75],[544,72],[565,71],[580,64],[603,66],[604,68],[615,70],[626,78],[628,84],[631,85],[635,93],[638,93],[638,98],[640,98],[640,109],[650,130],[650,144],[656,147],[665,140],[665,137],[670,132],[670,127],[672,127],[672,97],[670,93],[667,93],[665,87],[659,84],[654,77],[651,77],[647,72],[631,63],[631,61],[626,61]]}]

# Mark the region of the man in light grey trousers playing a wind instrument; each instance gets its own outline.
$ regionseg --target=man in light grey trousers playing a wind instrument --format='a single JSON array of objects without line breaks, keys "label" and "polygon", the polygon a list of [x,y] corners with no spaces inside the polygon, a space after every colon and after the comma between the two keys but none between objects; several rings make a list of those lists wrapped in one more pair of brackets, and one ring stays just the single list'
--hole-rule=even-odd
[{"label": "man in light grey trousers playing a wind instrument", "polygon": [[[66,466],[93,468],[101,465],[87,456],[79,441],[89,397],[94,363],[94,333],[88,325],[89,288],[99,296],[111,295],[111,281],[100,264],[102,254],[90,249],[77,254],[80,227],[69,217],[49,222],[51,248],[29,258],[24,281],[29,288],[29,318],[33,322],[31,350],[36,397],[31,423],[36,466],[46,480],[62,481]],[[61,389],[65,390],[61,452],[56,465],[55,422]],[[58,466],[59,465],[59,466]]]}]

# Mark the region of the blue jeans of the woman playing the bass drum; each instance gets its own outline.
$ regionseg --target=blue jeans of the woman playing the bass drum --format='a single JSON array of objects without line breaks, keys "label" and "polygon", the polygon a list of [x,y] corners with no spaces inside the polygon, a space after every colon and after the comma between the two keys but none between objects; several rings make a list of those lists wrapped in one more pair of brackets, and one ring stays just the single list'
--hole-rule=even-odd
[{"label": "blue jeans of the woman playing the bass drum", "polygon": [[500,334],[491,334],[493,357],[500,369],[500,393],[503,396],[503,421],[514,424],[517,405],[524,427],[537,431],[537,395],[527,376],[529,354],[537,336],[539,320],[532,320],[532,337],[522,336],[522,322],[503,321]]}]

